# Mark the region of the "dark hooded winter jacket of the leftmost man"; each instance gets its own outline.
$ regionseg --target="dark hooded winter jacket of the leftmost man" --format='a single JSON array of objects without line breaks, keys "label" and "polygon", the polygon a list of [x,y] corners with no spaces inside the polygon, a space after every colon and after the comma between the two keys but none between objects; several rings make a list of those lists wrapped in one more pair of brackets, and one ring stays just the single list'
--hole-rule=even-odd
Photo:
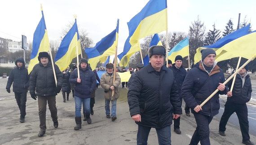
[{"label": "dark hooded winter jacket of the leftmost man", "polygon": [[[17,61],[21,61],[23,66],[18,67]],[[17,66],[14,68],[8,78],[6,88],[11,88],[13,84],[13,92],[27,92],[27,88],[29,87],[29,78],[27,69],[25,68],[25,62],[22,58],[18,58],[15,62]]]}]

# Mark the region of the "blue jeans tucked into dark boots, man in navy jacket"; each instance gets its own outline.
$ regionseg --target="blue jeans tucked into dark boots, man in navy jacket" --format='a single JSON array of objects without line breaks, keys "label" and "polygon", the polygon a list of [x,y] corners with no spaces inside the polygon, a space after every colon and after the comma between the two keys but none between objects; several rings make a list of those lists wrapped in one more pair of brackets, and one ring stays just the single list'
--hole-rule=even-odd
[{"label": "blue jeans tucked into dark boots, man in navy jacket", "polygon": [[85,114],[89,115],[91,113],[90,100],[91,98],[81,98],[81,97],[75,96],[75,117],[81,117],[82,103],[84,106]]}]

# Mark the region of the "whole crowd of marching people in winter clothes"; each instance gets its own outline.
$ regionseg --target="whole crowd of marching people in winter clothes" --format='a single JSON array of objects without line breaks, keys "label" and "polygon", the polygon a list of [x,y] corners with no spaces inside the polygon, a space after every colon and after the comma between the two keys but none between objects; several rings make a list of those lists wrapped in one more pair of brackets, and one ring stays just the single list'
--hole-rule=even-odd
[{"label": "whole crowd of marching people in winter clothes", "polygon": [[[210,145],[210,127],[213,117],[219,113],[219,94],[227,94],[225,110],[219,124],[219,133],[226,136],[226,124],[231,114],[236,112],[242,132],[242,143],[254,145],[250,141],[248,110],[246,103],[250,101],[252,84],[248,75],[248,65],[244,66],[235,76],[234,89],[231,84],[233,79],[224,85],[225,77],[221,68],[215,62],[216,53],[212,48],[201,51],[202,59],[194,67],[186,71],[183,66],[183,58],[175,57],[172,64],[168,60],[168,67],[164,65],[166,49],[163,46],[151,46],[148,50],[150,63],[147,66],[139,63],[136,71],[129,68],[131,77],[128,82],[122,82],[122,88],[126,84],[128,88],[128,105],[130,115],[138,125],[137,145],[147,145],[151,128],[155,128],[159,145],[171,145],[171,124],[174,122],[173,131],[181,134],[182,101],[185,101],[185,114],[194,114],[196,129],[191,138],[190,145]],[[46,105],[53,121],[53,126],[58,127],[56,108],[56,95],[62,90],[63,102],[69,101],[69,94],[75,99],[75,123],[74,130],[81,129],[83,105],[84,121],[92,123],[90,115],[94,114],[95,91],[97,81],[104,89],[106,118],[115,121],[116,104],[119,98],[119,84],[121,78],[114,73],[112,63],[106,64],[106,70],[102,67],[92,70],[86,59],[81,59],[77,66],[68,67],[60,71],[58,66],[52,64],[49,54],[41,52],[38,56],[39,63],[27,73],[25,62],[18,58],[16,68],[11,71],[6,85],[6,91],[10,92],[13,84],[13,92],[20,110],[20,122],[25,122],[26,116],[26,92],[30,88],[33,99],[38,99],[40,132],[39,137],[46,132]],[[241,64],[240,66],[242,66]],[[55,70],[55,72],[53,72]],[[97,71],[106,71],[101,78]],[[124,73],[122,68],[117,72]],[[54,75],[55,74],[55,75]],[[213,92],[204,105],[203,101]]]}]

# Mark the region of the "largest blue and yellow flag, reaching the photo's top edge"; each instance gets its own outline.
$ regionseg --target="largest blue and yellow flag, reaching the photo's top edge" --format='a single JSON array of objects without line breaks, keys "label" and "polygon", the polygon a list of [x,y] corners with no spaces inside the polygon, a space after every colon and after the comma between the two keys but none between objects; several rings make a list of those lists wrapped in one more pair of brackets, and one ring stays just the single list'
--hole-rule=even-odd
[{"label": "largest blue and yellow flag, reaching the photo's top edge", "polygon": [[132,54],[140,51],[141,38],[167,30],[166,13],[166,0],[150,0],[141,12],[127,23],[129,36],[125,41],[123,52],[118,55],[120,66],[127,66]]}]

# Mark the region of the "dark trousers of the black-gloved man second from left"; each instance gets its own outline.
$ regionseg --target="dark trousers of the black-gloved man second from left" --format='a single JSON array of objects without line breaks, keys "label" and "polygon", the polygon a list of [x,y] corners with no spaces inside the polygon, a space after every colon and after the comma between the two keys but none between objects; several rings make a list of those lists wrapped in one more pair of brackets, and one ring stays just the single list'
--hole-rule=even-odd
[{"label": "dark trousers of the black-gloved man second from left", "polygon": [[51,117],[53,122],[56,122],[57,117],[57,108],[56,108],[56,96],[38,96],[38,114],[40,119],[40,130],[46,130],[46,105],[48,102],[49,110],[51,112]]}]

